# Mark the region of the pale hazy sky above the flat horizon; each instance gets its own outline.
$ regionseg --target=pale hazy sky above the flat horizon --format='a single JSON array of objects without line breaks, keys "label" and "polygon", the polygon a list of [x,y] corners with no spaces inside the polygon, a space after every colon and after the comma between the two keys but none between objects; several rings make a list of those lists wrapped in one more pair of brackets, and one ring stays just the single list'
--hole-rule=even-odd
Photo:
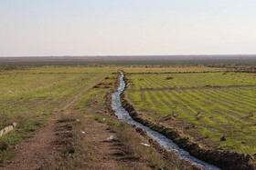
[{"label": "pale hazy sky above the flat horizon", "polygon": [[256,54],[255,0],[0,0],[0,56]]}]

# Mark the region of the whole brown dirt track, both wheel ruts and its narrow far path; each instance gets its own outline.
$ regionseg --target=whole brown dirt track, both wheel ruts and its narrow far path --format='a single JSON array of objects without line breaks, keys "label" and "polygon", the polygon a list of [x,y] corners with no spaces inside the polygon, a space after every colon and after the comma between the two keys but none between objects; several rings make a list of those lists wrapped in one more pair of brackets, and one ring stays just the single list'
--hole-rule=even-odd
[{"label": "whole brown dirt track, both wheel ruts and its narrow far path", "polygon": [[[97,85],[104,78],[101,78],[93,85]],[[84,165],[82,165],[84,169],[120,169],[120,167],[150,169],[145,163],[141,163],[138,160],[127,160],[125,155],[120,154],[123,153],[123,146],[118,145],[117,142],[103,142],[114,133],[108,129],[108,125],[95,121],[92,115],[106,114],[104,107],[98,107],[91,103],[90,107],[93,108],[93,112],[87,116],[74,113],[69,109],[93,85],[86,87],[80,94],[73,97],[69,104],[64,105],[62,107],[64,113],[50,116],[42,126],[32,133],[32,138],[17,143],[11,151],[15,157],[0,169],[59,168],[59,162],[67,161],[61,159],[61,153],[67,149],[72,152],[72,147],[80,142],[85,142],[91,150],[90,152],[93,153],[93,155],[87,155],[86,159],[90,161],[84,161]],[[97,98],[94,100],[97,100]],[[67,117],[75,117],[75,121],[73,123],[63,121],[69,120]],[[80,125],[75,124],[76,120],[81,120]],[[85,134],[81,133],[83,127],[85,127]],[[87,153],[80,154],[85,155]]]}]

